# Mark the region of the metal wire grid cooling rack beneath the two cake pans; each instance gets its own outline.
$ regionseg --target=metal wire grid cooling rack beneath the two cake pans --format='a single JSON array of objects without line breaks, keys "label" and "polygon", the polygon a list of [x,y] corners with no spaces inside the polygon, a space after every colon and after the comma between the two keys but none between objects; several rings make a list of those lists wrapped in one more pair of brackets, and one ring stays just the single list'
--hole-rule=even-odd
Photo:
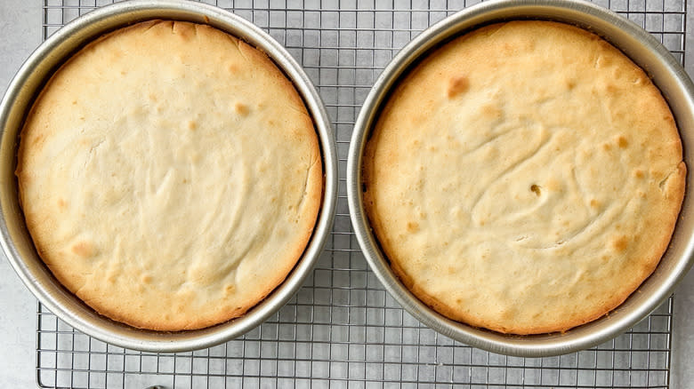
[{"label": "metal wire grid cooling rack beneath the two cake pans", "polygon": [[[44,0],[44,39],[101,0]],[[670,377],[673,298],[625,335],[580,353],[515,358],[425,328],[383,290],[351,231],[345,171],[361,103],[399,48],[465,0],[208,1],[253,21],[283,44],[318,86],[335,128],[340,187],[327,248],[296,296],[260,327],[193,353],[107,345],[38,306],[41,387],[650,387]],[[598,4],[649,30],[684,60],[686,2]]]}]

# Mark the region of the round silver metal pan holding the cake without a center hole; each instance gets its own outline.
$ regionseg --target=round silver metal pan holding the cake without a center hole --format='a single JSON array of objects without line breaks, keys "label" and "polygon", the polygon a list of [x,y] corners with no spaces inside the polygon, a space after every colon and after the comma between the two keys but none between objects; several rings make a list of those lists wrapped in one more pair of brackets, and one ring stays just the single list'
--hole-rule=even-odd
[{"label": "round silver metal pan holding the cake without a center hole", "polygon": [[[135,329],[96,314],[53,278],[36,254],[28,234],[14,176],[22,123],[52,72],[93,39],[109,31],[152,19],[204,23],[238,36],[275,61],[291,79],[312,116],[319,135],[325,184],[319,218],[303,257],[281,285],[244,316],[207,329],[157,332]],[[204,54],[203,54],[204,55]],[[261,324],[298,290],[313,269],[330,232],[337,198],[337,158],[327,112],[302,67],[270,36],[252,23],[220,8],[189,1],[130,1],[89,12],[41,44],[15,75],[0,103],[0,236],[5,255],[36,298],[64,322],[112,345],[152,352],[181,352],[218,345]]]}]

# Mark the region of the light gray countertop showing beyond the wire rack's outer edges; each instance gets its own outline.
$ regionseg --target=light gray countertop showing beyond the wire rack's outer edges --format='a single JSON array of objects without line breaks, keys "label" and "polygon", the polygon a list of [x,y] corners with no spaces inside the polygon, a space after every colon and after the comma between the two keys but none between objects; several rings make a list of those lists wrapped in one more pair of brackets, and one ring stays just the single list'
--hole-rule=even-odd
[{"label": "light gray countertop showing beyond the wire rack's outer edges", "polygon": [[[0,2],[0,91],[41,42],[39,2]],[[691,24],[691,18],[688,24]],[[687,37],[690,41],[691,36]],[[691,44],[688,44],[692,47]],[[694,51],[691,51],[694,52]],[[691,55],[688,53],[688,63]],[[690,74],[691,68],[688,68]],[[2,257],[2,254],[0,254]],[[0,258],[0,387],[36,386],[36,299],[20,282],[6,258]],[[694,272],[675,291],[671,387],[691,387],[694,369]]]}]

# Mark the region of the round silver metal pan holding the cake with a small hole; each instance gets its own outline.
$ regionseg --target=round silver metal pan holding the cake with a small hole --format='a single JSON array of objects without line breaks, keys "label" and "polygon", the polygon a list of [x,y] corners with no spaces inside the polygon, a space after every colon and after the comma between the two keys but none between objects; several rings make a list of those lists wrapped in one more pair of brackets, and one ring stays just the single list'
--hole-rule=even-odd
[{"label": "round silver metal pan holding the cake with a small hole", "polygon": [[[681,217],[664,258],[655,273],[624,304],[601,319],[564,333],[535,336],[504,335],[448,320],[424,305],[399,282],[369,227],[361,195],[361,166],[367,138],[384,101],[400,77],[432,49],[455,36],[504,20],[555,20],[602,36],[652,77],[667,99],[678,124],[684,160],[694,166],[694,85],[680,64],[647,31],[614,12],[583,1],[503,0],[478,4],[449,16],[425,30],[403,48],[376,80],[359,112],[347,163],[347,195],[351,222],[367,262],[385,288],[419,321],[464,344],[507,355],[541,357],[576,352],[625,332],[648,316],[673,291],[692,264],[694,204],[685,194]],[[690,182],[690,174],[687,182]],[[688,185],[689,186],[689,185]]]}]

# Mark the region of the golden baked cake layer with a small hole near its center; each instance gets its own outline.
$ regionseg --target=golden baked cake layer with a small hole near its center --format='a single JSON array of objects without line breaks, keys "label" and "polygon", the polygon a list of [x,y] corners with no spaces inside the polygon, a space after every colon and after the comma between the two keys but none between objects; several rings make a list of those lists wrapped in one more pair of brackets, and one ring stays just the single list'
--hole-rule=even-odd
[{"label": "golden baked cake layer with a small hole near its center", "polygon": [[609,313],[654,271],[686,167],[641,68],[582,29],[512,21],[445,44],[398,84],[363,173],[409,290],[456,321],[532,334]]}]

